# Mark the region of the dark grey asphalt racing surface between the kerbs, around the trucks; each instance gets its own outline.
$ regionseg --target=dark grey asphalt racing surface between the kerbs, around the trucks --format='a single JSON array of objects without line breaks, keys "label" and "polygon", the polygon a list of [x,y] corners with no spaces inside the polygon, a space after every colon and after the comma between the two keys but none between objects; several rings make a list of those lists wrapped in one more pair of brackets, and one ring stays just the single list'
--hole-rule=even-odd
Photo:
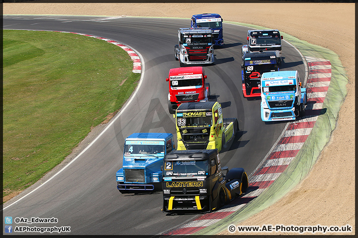
[{"label": "dark grey asphalt racing surface between the kerbs, around the trucks", "polygon": [[[168,112],[169,85],[165,79],[170,68],[179,67],[179,61],[174,58],[178,29],[189,25],[190,19],[3,16],[3,29],[76,32],[121,42],[139,52],[145,66],[143,83],[119,119],[74,163],[3,210],[3,216],[54,217],[58,223],[37,226],[70,226],[71,235],[157,235],[198,216],[166,215],[161,211],[162,192],[121,194],[115,177],[122,167],[123,143],[128,135],[176,132],[174,118]],[[243,167],[250,175],[267,155],[286,122],[265,124],[260,117],[260,100],[243,98],[241,46],[246,44],[249,28],[225,23],[223,27],[225,45],[214,50],[215,64],[204,67],[213,95],[211,100],[221,103],[224,118],[238,119],[240,132],[229,148],[220,153],[221,163],[229,168]],[[298,70],[304,78],[303,60],[284,41],[282,55],[280,70]]]}]

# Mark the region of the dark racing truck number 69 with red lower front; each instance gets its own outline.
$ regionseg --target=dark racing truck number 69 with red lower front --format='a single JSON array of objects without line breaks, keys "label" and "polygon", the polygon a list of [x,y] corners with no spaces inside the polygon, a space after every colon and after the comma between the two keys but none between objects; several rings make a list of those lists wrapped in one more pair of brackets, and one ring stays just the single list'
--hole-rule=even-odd
[{"label": "dark racing truck number 69 with red lower front", "polygon": [[264,72],[278,71],[274,52],[246,53],[241,67],[242,90],[245,98],[261,96],[261,75]]}]

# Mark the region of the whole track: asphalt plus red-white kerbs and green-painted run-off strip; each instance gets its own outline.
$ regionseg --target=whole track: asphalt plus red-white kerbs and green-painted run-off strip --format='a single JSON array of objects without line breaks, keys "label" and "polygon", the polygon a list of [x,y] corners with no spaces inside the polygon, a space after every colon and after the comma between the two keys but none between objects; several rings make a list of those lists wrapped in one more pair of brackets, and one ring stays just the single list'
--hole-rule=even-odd
[{"label": "whole track: asphalt plus red-white kerbs and green-painted run-off strip", "polygon": [[328,142],[345,96],[343,88],[347,82],[339,76],[341,65],[337,57],[283,33],[284,60],[280,70],[298,70],[306,76],[303,83],[308,105],[304,118],[265,124],[260,118],[260,100],[247,100],[241,92],[241,46],[246,44],[247,30],[256,26],[224,23],[225,45],[215,49],[216,62],[205,66],[205,72],[224,117],[236,117],[239,121],[240,132],[220,155],[222,164],[243,167],[250,175],[249,191],[217,212],[166,216],[161,212],[161,192],[120,194],[115,172],[121,167],[123,142],[129,134],[175,134],[174,119],[166,108],[165,78],[170,68],[179,67],[174,59],[174,45],[179,27],[186,27],[189,20],[10,15],[3,18],[4,29],[71,32],[118,45],[132,57],[134,72],[142,73],[135,94],[90,147],[46,184],[28,189],[3,206],[4,217],[56,217],[57,226],[71,226],[72,235],[217,234],[227,229],[268,207],[304,178]]}]

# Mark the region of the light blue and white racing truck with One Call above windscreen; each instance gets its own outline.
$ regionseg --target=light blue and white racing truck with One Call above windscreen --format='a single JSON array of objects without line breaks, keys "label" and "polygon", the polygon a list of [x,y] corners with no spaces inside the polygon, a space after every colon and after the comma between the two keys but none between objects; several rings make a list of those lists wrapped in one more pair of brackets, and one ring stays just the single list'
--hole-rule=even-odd
[{"label": "light blue and white racing truck with One Call above windscreen", "polygon": [[297,70],[263,73],[261,77],[261,119],[295,120],[304,115],[306,88],[301,87]]}]

